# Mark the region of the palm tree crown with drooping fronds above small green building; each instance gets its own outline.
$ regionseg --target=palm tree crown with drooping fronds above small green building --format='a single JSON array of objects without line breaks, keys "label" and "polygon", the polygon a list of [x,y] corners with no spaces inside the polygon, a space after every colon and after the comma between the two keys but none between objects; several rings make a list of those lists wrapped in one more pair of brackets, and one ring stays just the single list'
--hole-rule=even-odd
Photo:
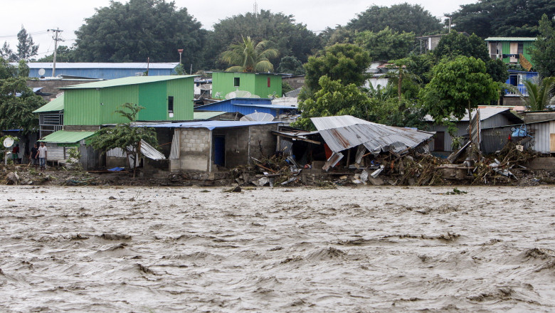
[{"label": "palm tree crown with drooping fronds above small green building", "polygon": [[256,43],[250,36],[243,38],[243,43],[229,46],[229,50],[221,54],[221,59],[228,63],[231,68],[226,72],[270,72],[274,65],[270,58],[276,58],[279,54],[275,49],[265,49],[268,41]]}]

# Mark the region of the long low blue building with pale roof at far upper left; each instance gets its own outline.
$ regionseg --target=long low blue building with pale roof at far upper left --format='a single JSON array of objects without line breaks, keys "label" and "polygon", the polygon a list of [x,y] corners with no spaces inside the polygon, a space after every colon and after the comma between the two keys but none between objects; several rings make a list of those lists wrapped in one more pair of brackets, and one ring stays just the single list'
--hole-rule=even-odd
[{"label": "long low blue building with pale roof at far upper left", "polygon": [[[17,63],[12,63],[17,65]],[[100,78],[112,80],[129,76],[140,76],[149,71],[149,76],[172,75],[179,63],[56,63],[56,76],[70,76],[77,78]],[[31,62],[29,77],[52,77],[53,63]],[[41,75],[39,73],[44,73]]]}]

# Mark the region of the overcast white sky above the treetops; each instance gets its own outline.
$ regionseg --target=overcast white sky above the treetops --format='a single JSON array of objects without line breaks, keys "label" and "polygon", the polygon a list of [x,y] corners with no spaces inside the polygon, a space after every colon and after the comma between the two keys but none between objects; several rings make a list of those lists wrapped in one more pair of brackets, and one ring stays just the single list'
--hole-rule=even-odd
[{"label": "overcast white sky above the treetops", "polygon": [[[54,43],[49,28],[63,30],[64,46],[71,46],[75,41],[74,31],[83,25],[85,18],[95,14],[95,8],[110,5],[109,0],[1,0],[0,10],[0,45],[10,43],[15,51],[16,34],[23,25],[31,33],[35,43],[39,44],[38,57],[51,54]],[[120,2],[127,2],[120,0]],[[327,26],[345,25],[356,14],[365,11],[372,4],[391,6],[408,2],[420,4],[434,16],[443,16],[459,9],[460,4],[475,3],[477,0],[257,0],[258,9],[282,12],[295,16],[297,23],[307,25],[312,31],[319,32]],[[200,21],[203,28],[212,29],[218,20],[237,14],[253,11],[254,0],[175,0],[176,6],[186,7],[189,14]]]}]

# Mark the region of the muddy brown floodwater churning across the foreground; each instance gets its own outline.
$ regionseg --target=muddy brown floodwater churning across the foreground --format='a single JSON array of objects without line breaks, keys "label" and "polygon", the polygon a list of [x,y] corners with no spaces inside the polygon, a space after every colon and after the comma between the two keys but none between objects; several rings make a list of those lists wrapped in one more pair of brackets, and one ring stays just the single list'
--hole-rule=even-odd
[{"label": "muddy brown floodwater churning across the foreground", "polygon": [[554,312],[555,187],[2,186],[0,312]]}]

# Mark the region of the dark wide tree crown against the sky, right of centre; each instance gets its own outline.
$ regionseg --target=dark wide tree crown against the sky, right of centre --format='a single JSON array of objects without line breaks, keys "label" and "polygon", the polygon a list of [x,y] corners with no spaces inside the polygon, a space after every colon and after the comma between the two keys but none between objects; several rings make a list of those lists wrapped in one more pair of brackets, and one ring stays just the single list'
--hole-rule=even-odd
[{"label": "dark wide tree crown against the sky, right of centre", "polygon": [[413,32],[416,36],[435,34],[441,31],[438,18],[424,10],[418,4],[393,4],[387,6],[370,6],[352,19],[347,28],[354,31],[374,31],[389,27],[393,31]]}]

